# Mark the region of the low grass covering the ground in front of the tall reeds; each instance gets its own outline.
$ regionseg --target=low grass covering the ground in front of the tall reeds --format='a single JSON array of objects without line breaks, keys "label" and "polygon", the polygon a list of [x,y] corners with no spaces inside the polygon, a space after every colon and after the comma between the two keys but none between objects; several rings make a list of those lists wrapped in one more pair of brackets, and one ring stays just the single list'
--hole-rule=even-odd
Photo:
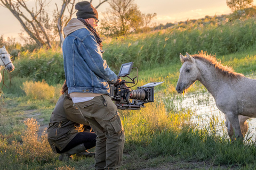
[{"label": "low grass covering the ground in front of the tall reeds", "polygon": [[[242,73],[256,70],[253,64],[250,64],[255,58],[253,52],[218,56],[218,58],[222,64],[233,65],[235,69],[241,69]],[[251,67],[249,72],[244,66],[246,64]],[[155,88],[155,103],[147,104],[146,108],[140,111],[120,111],[126,135],[124,164],[121,169],[154,168],[169,164],[181,169],[253,169],[256,150],[252,142],[246,145],[231,143],[226,129],[221,129],[222,135],[217,135],[219,133],[217,123],[223,121],[218,118],[212,118],[209,125],[199,127],[190,122],[190,117],[194,114],[193,109],[189,106],[179,107],[173,101],[175,99],[179,103],[187,95],[193,95],[196,98],[194,104],[209,104],[209,98],[200,98],[199,91],[206,93],[206,90],[199,83],[191,87],[184,97],[176,94],[174,87],[178,80],[180,66],[180,63],[174,63],[158,69],[139,71],[138,86],[155,81],[165,81],[165,83]],[[27,81],[25,78],[19,80]],[[18,78],[15,81],[18,82]],[[40,88],[41,86],[49,88],[44,83],[39,84]],[[61,84],[53,87],[54,93],[58,94]],[[39,141],[43,142],[39,136],[36,136],[30,140],[34,142],[25,145],[26,139],[31,136],[27,131],[30,130],[31,133],[37,134],[37,130],[29,128],[29,126],[35,126],[35,122],[29,125],[23,122],[33,117],[39,121],[41,126],[47,125],[58,95],[47,100],[37,99],[27,96],[25,92],[14,95],[10,92],[12,88],[17,89],[17,86],[4,91],[1,96],[1,167],[3,169],[93,169],[93,158],[75,157],[74,160],[65,163],[59,162],[58,155],[52,155],[51,150],[42,149],[40,145],[34,145],[27,150],[18,149],[23,146],[19,143],[23,143],[25,147],[32,146],[32,143]],[[9,94],[12,95],[9,97]],[[41,133],[43,130],[39,131]],[[44,147],[47,146],[47,142],[43,143]],[[37,151],[45,151],[43,154],[45,158],[33,155]],[[176,165],[176,162],[180,164]],[[191,162],[192,164],[188,164]],[[199,167],[193,164],[198,162],[202,164]]]}]

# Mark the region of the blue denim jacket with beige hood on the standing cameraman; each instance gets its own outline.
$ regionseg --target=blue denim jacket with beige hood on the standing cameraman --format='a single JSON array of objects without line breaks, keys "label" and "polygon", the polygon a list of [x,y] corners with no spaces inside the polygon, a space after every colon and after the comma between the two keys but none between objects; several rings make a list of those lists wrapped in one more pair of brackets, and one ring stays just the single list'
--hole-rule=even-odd
[{"label": "blue denim jacket with beige hood on the standing cameraman", "polygon": [[77,19],[70,20],[64,32],[67,37],[62,51],[69,94],[89,92],[109,95],[109,83],[115,83],[118,77],[103,60],[93,33]]}]

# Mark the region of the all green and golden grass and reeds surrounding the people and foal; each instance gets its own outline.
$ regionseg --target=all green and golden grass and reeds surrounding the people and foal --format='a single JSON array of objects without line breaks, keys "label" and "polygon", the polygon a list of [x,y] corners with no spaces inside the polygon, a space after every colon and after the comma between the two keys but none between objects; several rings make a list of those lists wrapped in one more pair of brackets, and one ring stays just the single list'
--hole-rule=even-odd
[{"label": "all green and golden grass and reeds surrounding the people and foal", "polygon": [[[126,62],[138,67],[137,86],[164,81],[155,87],[154,103],[120,111],[126,135],[121,170],[255,169],[254,141],[231,143],[221,116],[214,111],[214,116],[196,114],[199,107],[214,103],[202,84],[195,82],[183,95],[175,91],[179,53],[193,55],[198,49],[216,54],[236,72],[255,75],[255,25],[253,18],[212,18],[104,44],[103,57],[116,73]],[[94,169],[93,158],[60,162],[42,134],[65,79],[61,50],[22,52],[14,65],[11,82],[5,80],[9,88],[0,94],[0,169]],[[131,77],[135,75],[132,70]]]}]

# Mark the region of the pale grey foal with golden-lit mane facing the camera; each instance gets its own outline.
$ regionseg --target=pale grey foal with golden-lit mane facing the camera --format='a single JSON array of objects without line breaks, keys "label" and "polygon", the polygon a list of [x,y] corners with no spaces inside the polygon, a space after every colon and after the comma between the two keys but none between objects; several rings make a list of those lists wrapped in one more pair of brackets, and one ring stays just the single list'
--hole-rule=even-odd
[{"label": "pale grey foal with golden-lit mane facing the camera", "polygon": [[[180,54],[183,63],[176,90],[181,93],[196,80],[200,81],[215,99],[225,114],[226,126],[231,140],[243,139],[248,131],[246,120],[256,117],[256,80],[244,77],[223,66],[215,57],[199,53],[186,56]],[[239,115],[239,116],[238,116]],[[233,128],[235,137],[233,136]]]}]

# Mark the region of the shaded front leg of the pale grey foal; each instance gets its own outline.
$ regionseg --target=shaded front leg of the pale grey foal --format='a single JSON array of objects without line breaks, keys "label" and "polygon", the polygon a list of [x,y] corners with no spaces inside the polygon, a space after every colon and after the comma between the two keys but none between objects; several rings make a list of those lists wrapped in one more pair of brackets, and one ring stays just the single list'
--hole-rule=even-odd
[{"label": "shaded front leg of the pale grey foal", "polygon": [[234,130],[235,130],[235,136],[233,135],[232,137],[230,137],[230,135],[229,135],[231,140],[234,141],[235,139],[239,139],[239,140],[243,141],[243,134],[242,134],[242,131],[241,131],[241,128],[240,128],[240,123],[239,123],[238,115],[235,115],[232,112],[228,112],[228,113],[226,113],[226,116],[228,118],[228,121],[231,123],[230,126],[229,126],[229,129],[230,129],[229,133],[230,133],[230,135],[231,135],[231,132],[232,132],[231,129],[234,128]]}]

